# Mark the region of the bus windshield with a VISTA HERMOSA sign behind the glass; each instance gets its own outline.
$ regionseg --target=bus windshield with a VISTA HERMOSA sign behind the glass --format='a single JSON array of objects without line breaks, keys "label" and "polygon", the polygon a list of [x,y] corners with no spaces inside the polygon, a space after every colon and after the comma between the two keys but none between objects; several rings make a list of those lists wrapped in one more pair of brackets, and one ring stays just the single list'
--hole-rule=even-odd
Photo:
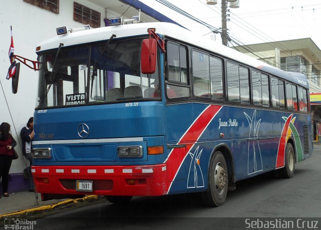
[{"label": "bus windshield with a VISTA HERMOSA sign behind the glass", "polygon": [[142,39],[62,47],[40,55],[37,108],[159,99],[159,74],[140,71]]}]

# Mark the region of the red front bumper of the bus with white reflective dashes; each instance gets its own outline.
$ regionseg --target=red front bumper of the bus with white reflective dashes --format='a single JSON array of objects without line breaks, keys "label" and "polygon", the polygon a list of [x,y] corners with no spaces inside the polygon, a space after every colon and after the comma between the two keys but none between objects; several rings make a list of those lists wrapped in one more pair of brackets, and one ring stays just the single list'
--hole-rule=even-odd
[{"label": "red front bumper of the bus with white reflective dashes", "polygon": [[[165,195],[166,164],[148,166],[32,166],[37,192],[66,195]],[[92,192],[77,191],[76,181],[93,181]]]}]

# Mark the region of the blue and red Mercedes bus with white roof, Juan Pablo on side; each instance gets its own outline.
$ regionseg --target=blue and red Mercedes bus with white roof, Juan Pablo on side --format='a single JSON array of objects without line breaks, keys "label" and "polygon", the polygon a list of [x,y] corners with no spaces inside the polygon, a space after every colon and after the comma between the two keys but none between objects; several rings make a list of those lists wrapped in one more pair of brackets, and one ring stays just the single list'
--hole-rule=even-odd
[{"label": "blue and red Mercedes bus with white roof, Juan Pablo on side", "polygon": [[43,200],[199,192],[294,175],[313,149],[306,77],[169,23],[67,33],[37,47],[32,173]]}]

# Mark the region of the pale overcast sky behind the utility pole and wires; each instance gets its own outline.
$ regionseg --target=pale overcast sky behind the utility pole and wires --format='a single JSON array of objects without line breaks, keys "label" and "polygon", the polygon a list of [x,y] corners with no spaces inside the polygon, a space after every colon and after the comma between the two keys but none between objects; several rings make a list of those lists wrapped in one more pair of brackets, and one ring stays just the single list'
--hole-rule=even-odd
[{"label": "pale overcast sky behind the utility pole and wires", "polygon": [[[189,30],[211,36],[221,42],[220,35],[194,22],[156,0],[140,0],[165,14]],[[167,0],[183,11],[216,27],[221,24],[221,0],[207,5],[206,0]],[[256,44],[299,38],[311,38],[321,49],[321,1],[319,0],[239,0],[240,8],[232,9],[227,22],[229,36],[241,44]],[[209,34],[210,33],[210,34]]]}]

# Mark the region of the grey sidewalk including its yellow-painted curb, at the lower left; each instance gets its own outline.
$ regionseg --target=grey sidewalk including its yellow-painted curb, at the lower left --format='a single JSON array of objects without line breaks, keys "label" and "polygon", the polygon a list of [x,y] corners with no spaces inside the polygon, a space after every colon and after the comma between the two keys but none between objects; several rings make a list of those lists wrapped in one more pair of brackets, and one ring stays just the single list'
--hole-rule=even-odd
[{"label": "grey sidewalk including its yellow-painted curb, at the lower left", "polygon": [[34,192],[10,193],[9,197],[0,199],[0,220],[8,217],[42,217],[57,213],[62,209],[74,209],[105,202],[104,196],[88,195],[77,199],[60,199],[41,201],[38,193],[38,203]]}]

